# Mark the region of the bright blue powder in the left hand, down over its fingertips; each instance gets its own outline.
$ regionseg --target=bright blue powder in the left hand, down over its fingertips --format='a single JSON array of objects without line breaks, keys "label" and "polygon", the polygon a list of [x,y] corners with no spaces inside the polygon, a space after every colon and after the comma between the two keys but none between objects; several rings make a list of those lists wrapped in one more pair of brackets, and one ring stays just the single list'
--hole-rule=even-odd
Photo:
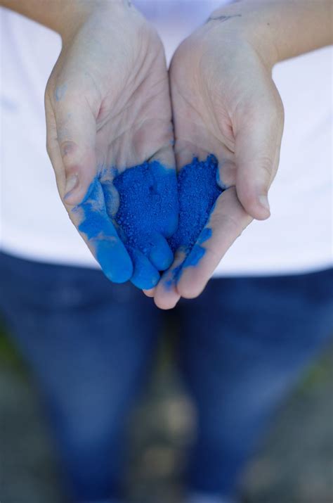
[{"label": "bright blue powder in the left hand, down over its fingertips", "polygon": [[119,174],[114,185],[119,193],[115,221],[134,265],[131,281],[152,288],[159,271],[174,260],[166,238],[178,224],[176,172],[158,161],[146,162]]}]

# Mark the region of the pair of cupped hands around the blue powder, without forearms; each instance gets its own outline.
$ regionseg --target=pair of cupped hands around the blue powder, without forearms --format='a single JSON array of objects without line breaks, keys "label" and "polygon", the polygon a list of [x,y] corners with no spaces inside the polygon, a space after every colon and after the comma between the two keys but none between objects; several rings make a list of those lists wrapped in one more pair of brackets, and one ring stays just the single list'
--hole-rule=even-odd
[{"label": "pair of cupped hands around the blue powder, without forearms", "polygon": [[[64,27],[46,87],[48,154],[70,219],[97,259],[102,246],[100,265],[111,281],[127,281],[134,272],[115,223],[115,173],[146,160],[170,170],[194,156],[214,153],[218,160],[217,183],[227,190],[209,217],[204,256],[173,280],[184,260],[180,248],[159,283],[145,290],[162,309],[199,295],[244,228],[270,215],[283,108],[271,77],[274,51],[260,53],[254,31],[237,4],[216,11],[178,47],[168,72],[157,32],[127,0],[96,2]],[[87,201],[90,235],[80,231]],[[166,211],[175,229],[163,238],[176,231],[178,216],[178,208]]]}]

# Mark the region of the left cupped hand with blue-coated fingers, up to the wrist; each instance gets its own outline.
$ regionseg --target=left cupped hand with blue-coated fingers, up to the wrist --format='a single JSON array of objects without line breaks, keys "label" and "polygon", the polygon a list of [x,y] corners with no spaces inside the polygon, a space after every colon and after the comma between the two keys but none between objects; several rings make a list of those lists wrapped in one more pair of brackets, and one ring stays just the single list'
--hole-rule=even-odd
[{"label": "left cupped hand with blue-coated fingers, up to the wrist", "polygon": [[[106,276],[151,288],[159,280],[161,262],[164,269],[170,265],[165,238],[176,229],[178,217],[164,50],[129,1],[84,6],[77,21],[66,24],[63,50],[46,87],[48,154],[70,219]],[[164,221],[155,233],[152,229],[155,245],[164,247],[162,257],[151,249],[131,248],[129,255],[119,238],[122,233],[126,241],[126,233],[115,221],[119,193],[114,179],[145,160],[167,167],[164,183],[174,191],[172,207],[162,208]]]}]

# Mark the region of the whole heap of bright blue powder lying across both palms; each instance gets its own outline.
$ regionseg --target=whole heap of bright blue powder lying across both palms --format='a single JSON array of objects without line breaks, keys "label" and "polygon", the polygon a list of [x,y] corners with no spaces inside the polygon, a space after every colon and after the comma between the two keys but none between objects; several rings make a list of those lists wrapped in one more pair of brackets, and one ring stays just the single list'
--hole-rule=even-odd
[{"label": "whole heap of bright blue powder lying across both palms", "polygon": [[[193,247],[197,248],[197,257],[192,263],[195,265],[204,253],[204,248],[195,243],[222,192],[216,183],[217,170],[218,161],[209,155],[204,161],[193,158],[192,163],[178,173],[177,182],[173,170],[166,170],[157,161],[119,174],[114,180],[119,192],[115,220],[129,254],[138,249],[149,255],[152,246],[158,243],[158,238],[153,236],[162,234],[173,253],[182,248],[188,255]],[[205,231],[204,236],[200,236],[201,243],[211,235],[210,229]]]}]

